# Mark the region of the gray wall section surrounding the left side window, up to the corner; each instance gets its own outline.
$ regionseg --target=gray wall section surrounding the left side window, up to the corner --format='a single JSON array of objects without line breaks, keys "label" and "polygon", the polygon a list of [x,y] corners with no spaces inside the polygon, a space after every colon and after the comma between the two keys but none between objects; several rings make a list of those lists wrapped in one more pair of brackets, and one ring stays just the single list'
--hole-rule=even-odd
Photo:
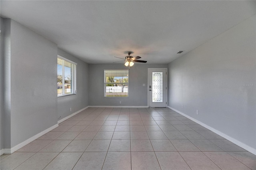
[{"label": "gray wall section surrounding the left side window, up to the corner", "polygon": [[[74,61],[76,66],[76,95],[58,97],[58,120],[63,119],[76,111],[88,106],[88,79],[89,66],[84,61],[73,57],[65,51],[58,49],[58,55]],[[72,111],[70,112],[70,107]]]}]

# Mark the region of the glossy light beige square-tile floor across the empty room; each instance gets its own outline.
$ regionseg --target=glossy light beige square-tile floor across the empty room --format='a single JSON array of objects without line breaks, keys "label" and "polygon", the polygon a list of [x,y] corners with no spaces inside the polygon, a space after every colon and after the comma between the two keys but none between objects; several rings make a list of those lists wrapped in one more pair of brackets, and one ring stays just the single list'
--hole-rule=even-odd
[{"label": "glossy light beige square-tile floor across the empty room", "polygon": [[256,156],[168,108],[88,108],[1,170],[256,170]]}]

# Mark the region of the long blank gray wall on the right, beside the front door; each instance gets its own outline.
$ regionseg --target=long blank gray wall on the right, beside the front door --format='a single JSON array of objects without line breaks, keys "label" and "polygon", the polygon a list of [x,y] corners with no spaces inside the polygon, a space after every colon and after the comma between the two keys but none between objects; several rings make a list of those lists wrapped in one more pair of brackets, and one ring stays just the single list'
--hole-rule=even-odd
[{"label": "long blank gray wall on the right, beside the front door", "polygon": [[256,148],[255,28],[253,16],[168,65],[168,106],[252,148]]}]

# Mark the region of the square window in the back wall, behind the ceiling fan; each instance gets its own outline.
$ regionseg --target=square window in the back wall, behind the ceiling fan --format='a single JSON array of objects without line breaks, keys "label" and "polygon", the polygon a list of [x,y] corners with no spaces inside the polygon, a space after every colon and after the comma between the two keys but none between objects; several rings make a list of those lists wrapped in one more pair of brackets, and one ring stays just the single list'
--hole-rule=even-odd
[{"label": "square window in the back wall, behind the ceiling fan", "polygon": [[104,96],[128,97],[128,70],[104,70]]}]

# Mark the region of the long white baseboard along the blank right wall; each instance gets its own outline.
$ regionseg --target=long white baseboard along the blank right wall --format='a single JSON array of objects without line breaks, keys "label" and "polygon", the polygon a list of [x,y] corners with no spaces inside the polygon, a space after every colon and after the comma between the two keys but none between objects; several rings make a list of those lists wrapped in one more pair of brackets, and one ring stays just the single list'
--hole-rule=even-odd
[{"label": "long white baseboard along the blank right wall", "polygon": [[177,113],[180,113],[180,115],[183,115],[184,117],[190,119],[191,121],[194,121],[194,122],[198,123],[199,125],[201,125],[201,126],[207,128],[207,129],[211,130],[212,132],[222,136],[223,138],[229,140],[230,142],[232,142],[232,143],[240,146],[241,148],[244,148],[248,152],[251,152],[252,154],[256,155],[256,148],[252,148],[251,146],[248,146],[247,144],[244,144],[243,142],[240,142],[239,140],[236,140],[236,139],[234,139],[234,138],[232,138],[232,137],[230,137],[230,136],[220,132],[219,130],[216,130],[215,128],[212,128],[212,127],[210,127],[210,126],[208,126],[208,125],[198,121],[197,119],[194,119],[194,118],[192,118],[192,117],[190,117],[190,116],[188,116],[188,115],[186,115],[186,114],[184,114],[184,113],[182,113],[182,112],[180,112],[180,111],[178,111],[178,110],[176,110],[176,109],[174,109],[174,108],[172,108],[170,106],[168,106],[168,108],[176,111]]}]

